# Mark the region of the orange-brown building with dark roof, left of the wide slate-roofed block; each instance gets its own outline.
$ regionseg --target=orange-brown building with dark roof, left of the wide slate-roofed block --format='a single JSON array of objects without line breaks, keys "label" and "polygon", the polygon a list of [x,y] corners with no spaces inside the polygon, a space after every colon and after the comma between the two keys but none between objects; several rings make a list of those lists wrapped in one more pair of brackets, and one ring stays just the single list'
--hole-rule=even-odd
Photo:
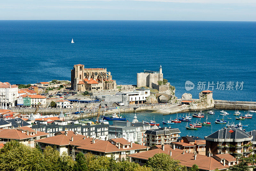
[{"label": "orange-brown building with dark roof, left of the wide slate-roofed block", "polygon": [[172,142],[175,148],[184,150],[189,153],[196,152],[200,155],[206,155],[206,143],[205,140],[199,137],[186,136],[178,139],[178,142]]}]

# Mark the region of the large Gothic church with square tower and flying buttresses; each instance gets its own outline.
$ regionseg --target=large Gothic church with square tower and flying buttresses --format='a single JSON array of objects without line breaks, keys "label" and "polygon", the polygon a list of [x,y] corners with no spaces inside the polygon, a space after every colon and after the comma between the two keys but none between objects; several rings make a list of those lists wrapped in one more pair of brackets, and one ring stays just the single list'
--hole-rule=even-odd
[{"label": "large Gothic church with square tower and flying buttresses", "polygon": [[106,68],[84,68],[74,65],[71,70],[71,89],[75,91],[101,91],[116,89],[116,80]]}]

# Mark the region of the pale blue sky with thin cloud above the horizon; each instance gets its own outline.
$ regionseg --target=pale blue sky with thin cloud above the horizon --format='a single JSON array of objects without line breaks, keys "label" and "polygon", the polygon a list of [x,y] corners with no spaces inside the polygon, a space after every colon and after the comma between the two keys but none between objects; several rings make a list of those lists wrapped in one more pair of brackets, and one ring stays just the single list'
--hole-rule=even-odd
[{"label": "pale blue sky with thin cloud above the horizon", "polygon": [[0,20],[256,21],[256,0],[0,0]]}]

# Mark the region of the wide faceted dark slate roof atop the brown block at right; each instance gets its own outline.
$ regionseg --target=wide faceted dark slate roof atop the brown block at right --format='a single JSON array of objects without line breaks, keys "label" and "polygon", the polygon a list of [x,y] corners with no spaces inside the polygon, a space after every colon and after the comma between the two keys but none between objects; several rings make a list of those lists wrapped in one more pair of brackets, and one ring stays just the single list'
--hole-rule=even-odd
[{"label": "wide faceted dark slate roof atop the brown block at right", "polygon": [[[228,131],[233,130],[234,132],[230,133]],[[217,130],[216,132],[212,133],[211,135],[205,138],[213,138],[213,139],[243,139],[243,138],[250,138],[251,136],[246,132],[237,129],[237,128],[226,128],[223,130]]]}]

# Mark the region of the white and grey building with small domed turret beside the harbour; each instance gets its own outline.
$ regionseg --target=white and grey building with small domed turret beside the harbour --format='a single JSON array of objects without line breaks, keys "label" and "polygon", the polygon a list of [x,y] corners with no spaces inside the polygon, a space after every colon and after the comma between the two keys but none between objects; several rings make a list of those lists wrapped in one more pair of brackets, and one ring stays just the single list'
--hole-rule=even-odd
[{"label": "white and grey building with small domed turret beside the harbour", "polygon": [[[137,118],[136,115],[135,117]],[[113,121],[113,125],[109,125],[108,138],[124,138],[142,145],[144,133],[141,130],[145,129],[150,129],[150,125],[142,122]]]}]

